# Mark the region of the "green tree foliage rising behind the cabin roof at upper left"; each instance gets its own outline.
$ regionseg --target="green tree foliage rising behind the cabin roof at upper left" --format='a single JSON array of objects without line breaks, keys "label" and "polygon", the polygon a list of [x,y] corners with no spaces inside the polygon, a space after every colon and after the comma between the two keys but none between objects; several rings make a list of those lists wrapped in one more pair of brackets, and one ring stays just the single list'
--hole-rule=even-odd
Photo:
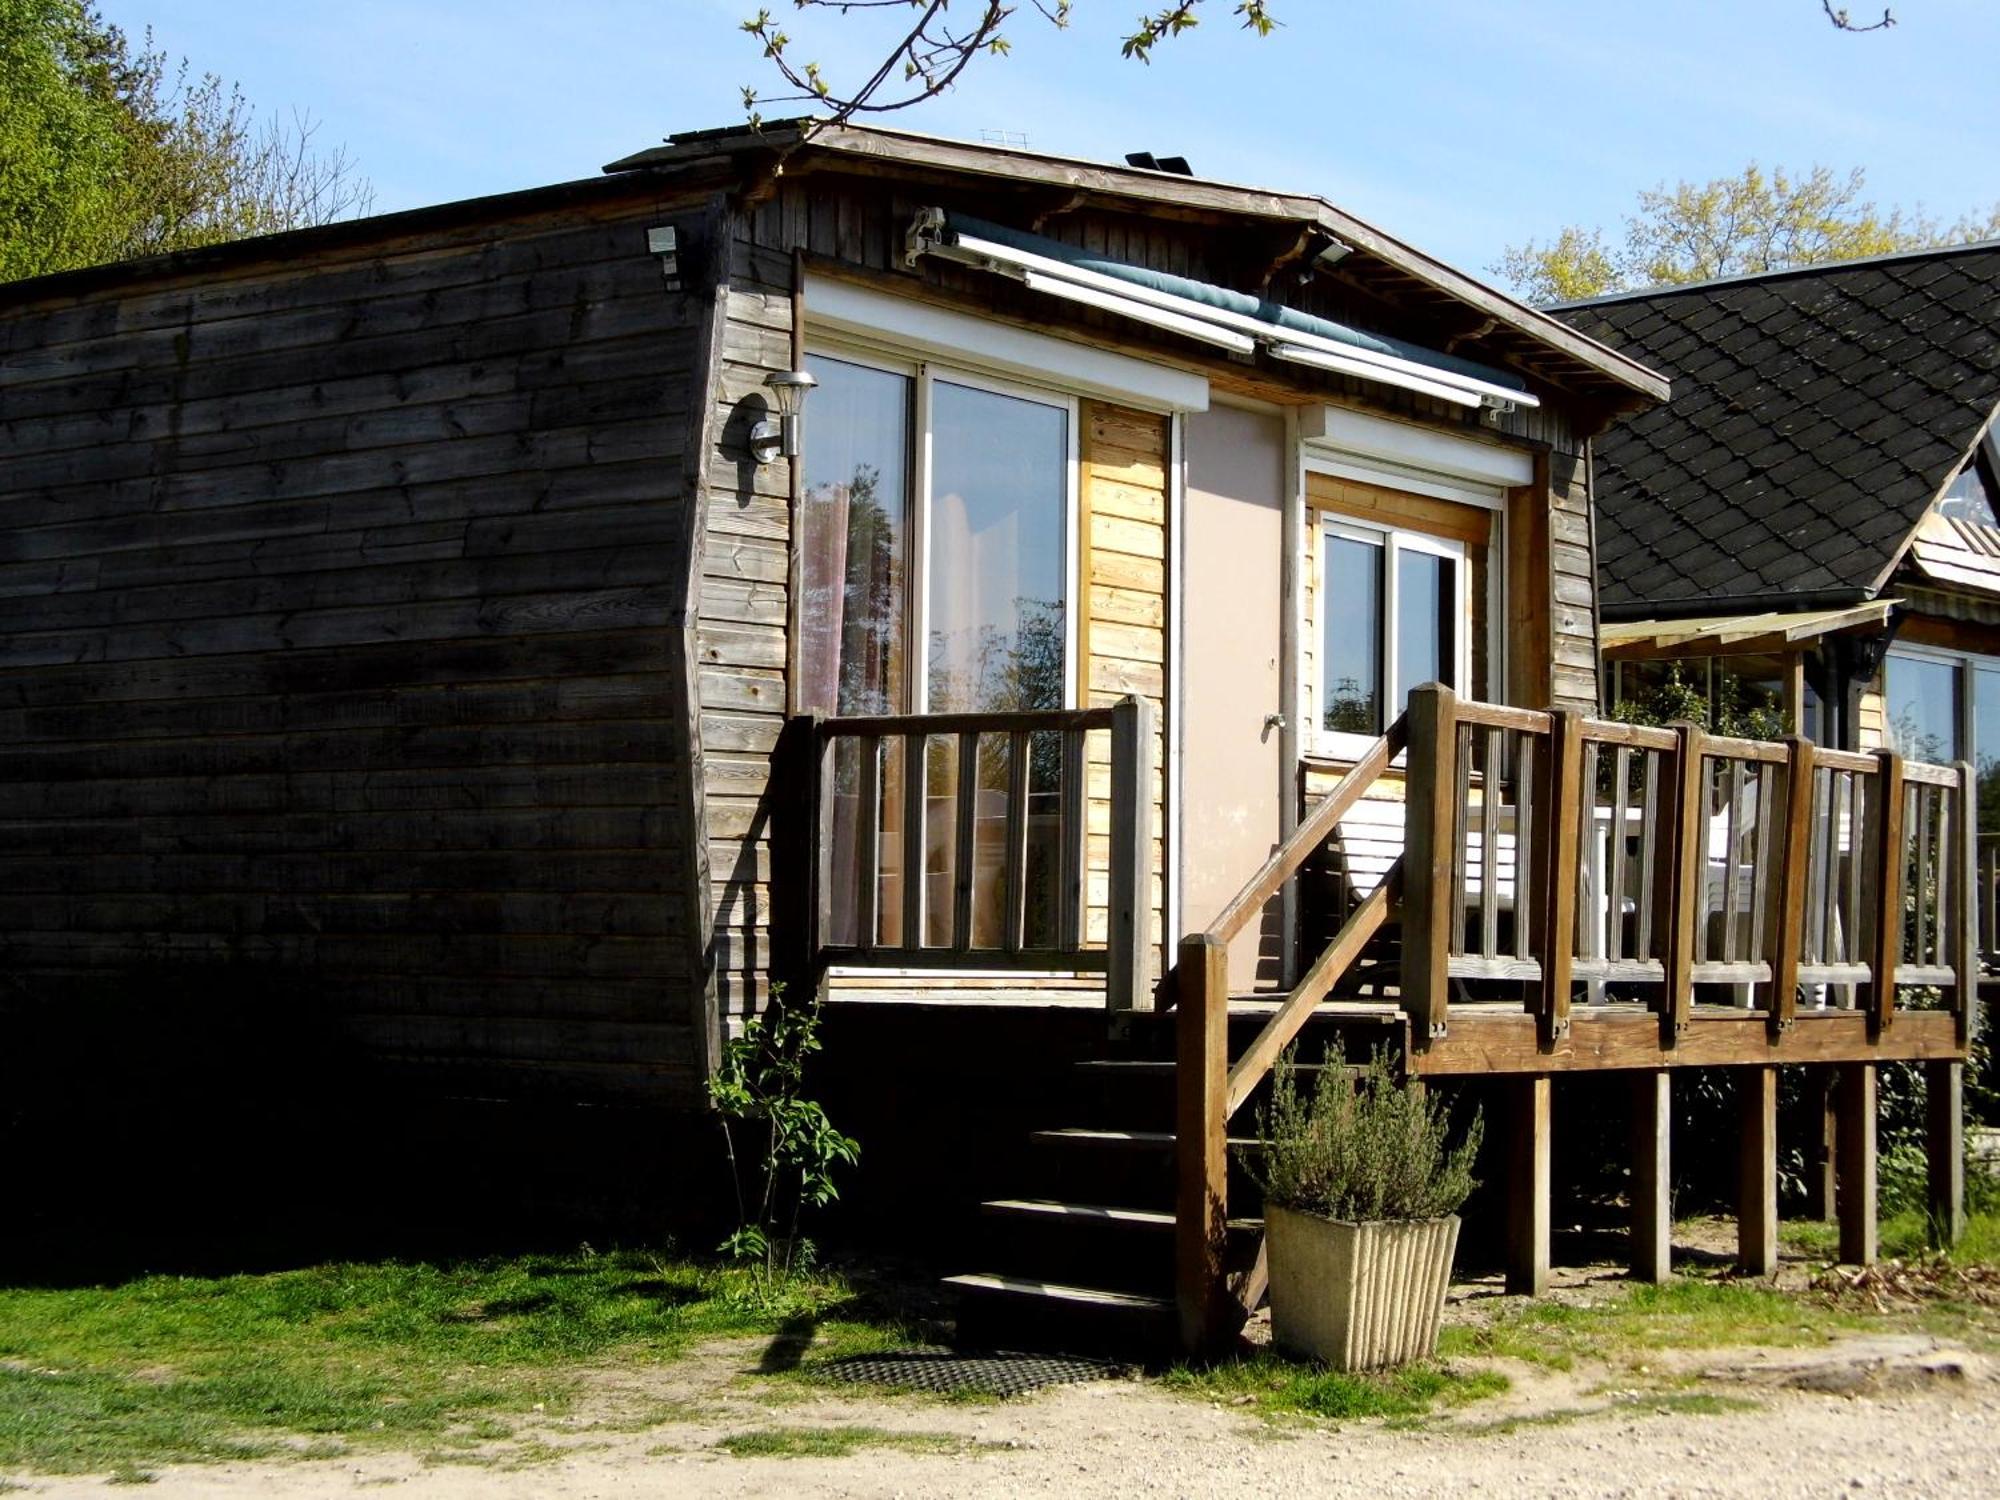
[{"label": "green tree foliage rising behind the cabin roof at upper left", "polygon": [[84,0],[0,0],[0,280],[368,212],[344,150]]}]

